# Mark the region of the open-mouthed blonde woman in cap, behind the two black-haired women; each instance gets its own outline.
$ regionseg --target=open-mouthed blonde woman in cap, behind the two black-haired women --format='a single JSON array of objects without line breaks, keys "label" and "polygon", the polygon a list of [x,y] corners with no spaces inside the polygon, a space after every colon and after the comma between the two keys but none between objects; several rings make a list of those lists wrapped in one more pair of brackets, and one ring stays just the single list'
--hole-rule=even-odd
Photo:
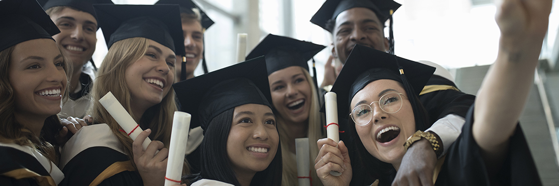
[{"label": "open-mouthed blonde woman in cap, behind the two black-haired women", "polygon": [[[321,127],[319,96],[307,65],[307,61],[324,48],[315,43],[270,34],[247,56],[247,59],[266,57],[272,102],[277,111],[278,131],[283,144],[282,185],[299,184],[295,139],[309,138],[310,157],[314,159],[318,155],[315,141],[325,137]],[[311,177],[318,180],[314,169],[311,170]],[[312,184],[321,185],[320,182]]]}]

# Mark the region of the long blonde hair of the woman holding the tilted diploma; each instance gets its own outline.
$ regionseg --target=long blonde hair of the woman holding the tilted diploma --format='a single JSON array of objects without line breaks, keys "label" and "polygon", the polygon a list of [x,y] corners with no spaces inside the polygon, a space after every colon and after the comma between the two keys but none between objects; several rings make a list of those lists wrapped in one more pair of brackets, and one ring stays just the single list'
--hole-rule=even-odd
[{"label": "long blonde hair of the woman holding the tilted diploma", "polygon": [[[148,47],[149,41],[147,38],[143,37],[127,38],[113,43],[103,63],[101,63],[96,80],[93,83],[93,89],[91,91],[93,104],[88,111],[89,115],[93,117],[94,123],[105,123],[111,128],[112,133],[114,133],[122,143],[124,151],[129,156],[134,167],[136,167],[134,164],[134,155],[132,153],[132,142],[134,141],[132,141],[128,135],[120,131],[120,125],[97,100],[111,91],[116,99],[119,100],[120,104],[124,106],[126,111],[134,116],[130,106],[131,93],[129,85],[126,84],[125,81],[125,72],[132,63],[140,60],[140,58],[145,55]],[[173,114],[174,111],[177,110],[174,97],[174,90],[173,87],[171,87],[159,104],[149,107],[141,118],[138,119],[140,125],[148,126],[148,128],[154,131],[154,133],[151,133],[150,138],[152,140],[162,141],[166,148],[169,148]],[[185,165],[183,172],[186,171],[186,173],[188,173],[187,170],[189,170],[189,168],[186,159]]]}]

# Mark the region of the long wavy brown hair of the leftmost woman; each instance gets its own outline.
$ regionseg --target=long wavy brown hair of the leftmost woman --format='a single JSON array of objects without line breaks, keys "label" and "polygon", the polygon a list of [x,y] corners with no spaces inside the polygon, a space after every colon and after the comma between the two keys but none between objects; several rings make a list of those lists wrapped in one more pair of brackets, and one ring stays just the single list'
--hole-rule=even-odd
[{"label": "long wavy brown hair of the leftmost woman", "polygon": [[[10,84],[9,69],[12,54],[16,46],[17,45],[14,45],[0,51],[0,69],[2,71],[2,73],[0,73],[0,97],[4,97],[4,99],[0,99],[0,121],[2,121],[0,122],[0,142],[30,146],[31,148],[37,149],[37,151],[54,164],[58,164],[56,148],[51,144],[58,145],[54,140],[54,136],[62,129],[58,115],[51,115],[45,119],[40,136],[31,133],[29,129],[26,129],[25,126],[20,124],[15,118],[15,92]],[[58,47],[58,45],[56,46]],[[70,71],[72,71],[71,63],[68,62],[68,58],[60,48],[58,48],[58,50],[63,55],[64,64],[62,67],[65,71],[65,76],[68,77]],[[70,81],[69,79],[67,80]],[[66,90],[64,90],[64,95],[62,96],[62,101],[68,98],[68,86],[66,86]]]}]

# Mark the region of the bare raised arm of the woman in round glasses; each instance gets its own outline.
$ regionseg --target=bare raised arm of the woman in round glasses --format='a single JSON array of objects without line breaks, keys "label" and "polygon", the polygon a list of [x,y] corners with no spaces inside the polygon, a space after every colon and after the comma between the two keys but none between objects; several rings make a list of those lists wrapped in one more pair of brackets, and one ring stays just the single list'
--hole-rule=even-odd
[{"label": "bare raised arm of the woman in round glasses", "polygon": [[488,171],[502,161],[533,85],[552,0],[503,0],[496,16],[499,53],[475,101],[473,137]]}]

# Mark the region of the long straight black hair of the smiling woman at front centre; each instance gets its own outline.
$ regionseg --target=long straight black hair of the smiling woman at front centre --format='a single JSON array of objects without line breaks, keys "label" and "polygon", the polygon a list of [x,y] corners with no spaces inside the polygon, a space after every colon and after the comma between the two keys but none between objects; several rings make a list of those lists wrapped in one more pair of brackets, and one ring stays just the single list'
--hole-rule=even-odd
[{"label": "long straight black hair of the smiling woman at front centre", "polygon": [[[234,107],[226,110],[210,121],[200,145],[200,173],[185,177],[191,179],[191,183],[201,179],[212,179],[240,186],[233,168],[231,168],[231,160],[226,153],[234,110]],[[250,185],[281,185],[282,158],[280,143],[278,143],[277,148],[276,155],[268,168],[256,173]]]}]

